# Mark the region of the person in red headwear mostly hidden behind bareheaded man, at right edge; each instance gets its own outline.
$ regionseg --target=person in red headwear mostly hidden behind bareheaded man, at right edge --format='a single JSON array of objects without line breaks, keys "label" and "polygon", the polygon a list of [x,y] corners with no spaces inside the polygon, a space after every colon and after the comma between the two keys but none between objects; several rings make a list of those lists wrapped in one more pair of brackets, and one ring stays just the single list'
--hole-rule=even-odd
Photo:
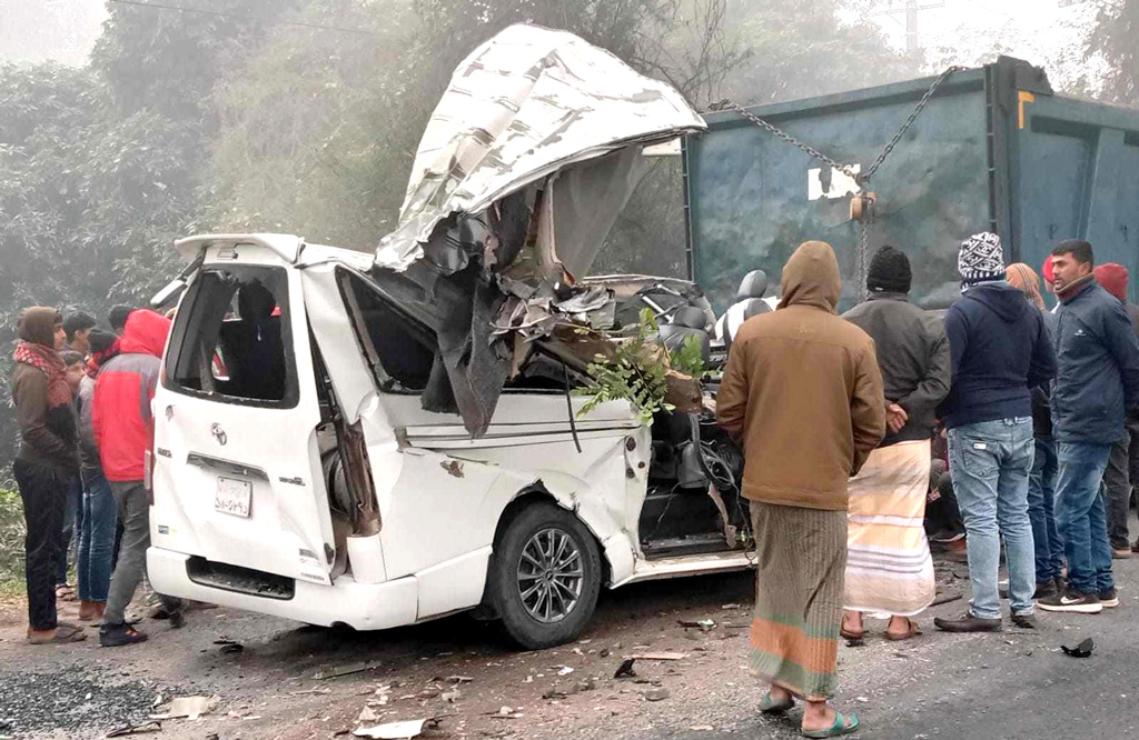
[{"label": "person in red headwear mostly hidden behind bareheaded man, at right edge", "polygon": [[[1096,282],[1118,298],[1128,312],[1131,327],[1139,336],[1139,306],[1128,303],[1128,269],[1115,262],[1096,265],[1092,271]],[[1107,540],[1112,544],[1112,558],[1123,560],[1131,557],[1131,536],[1128,533],[1128,513],[1131,510],[1131,486],[1139,482],[1136,463],[1139,462],[1139,418],[1129,413],[1123,429],[1123,438],[1112,445],[1104,471],[1107,488]]]}]

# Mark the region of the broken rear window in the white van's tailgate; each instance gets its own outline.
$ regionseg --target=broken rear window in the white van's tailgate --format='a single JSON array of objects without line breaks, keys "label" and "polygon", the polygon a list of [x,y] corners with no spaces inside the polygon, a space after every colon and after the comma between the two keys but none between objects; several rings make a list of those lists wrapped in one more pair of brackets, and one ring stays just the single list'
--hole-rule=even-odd
[{"label": "broken rear window in the white van's tailgate", "polygon": [[288,315],[284,269],[204,270],[174,320],[166,387],[228,403],[296,405]]}]

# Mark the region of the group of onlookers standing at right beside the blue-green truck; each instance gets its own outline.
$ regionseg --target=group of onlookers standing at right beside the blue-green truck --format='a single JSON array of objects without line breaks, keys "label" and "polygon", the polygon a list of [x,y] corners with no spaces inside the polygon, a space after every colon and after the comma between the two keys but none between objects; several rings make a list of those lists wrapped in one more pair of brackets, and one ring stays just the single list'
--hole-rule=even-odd
[{"label": "group of onlookers standing at right beside the blue-green truck", "polygon": [[716,412],[744,449],[752,665],[771,683],[761,712],[798,698],[804,735],[859,729],[828,706],[838,639],[862,640],[867,616],[888,618],[888,640],[919,634],[913,617],[936,594],[927,528],[968,562],[973,587],[964,615],[934,619],[941,630],[1002,627],[1002,549],[1018,627],[1036,626],[1038,606],[1120,606],[1139,309],[1128,271],[1097,268],[1087,241],[1058,244],[1043,269],[1052,310],[1032,268],[974,235],[942,318],[909,302],[909,260],[883,247],[869,298],[839,318],[834,252],[809,241],[784,268],[779,309],[738,327]]}]

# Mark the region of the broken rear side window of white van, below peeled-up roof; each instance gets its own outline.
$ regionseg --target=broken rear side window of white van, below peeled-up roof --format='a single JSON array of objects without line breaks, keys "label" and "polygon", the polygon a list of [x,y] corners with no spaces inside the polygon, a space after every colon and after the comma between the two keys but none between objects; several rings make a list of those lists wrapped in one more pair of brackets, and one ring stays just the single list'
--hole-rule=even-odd
[{"label": "broken rear side window of white van, below peeled-up roof", "polygon": [[435,362],[435,336],[355,274],[339,273],[341,294],[380,390],[421,393]]}]

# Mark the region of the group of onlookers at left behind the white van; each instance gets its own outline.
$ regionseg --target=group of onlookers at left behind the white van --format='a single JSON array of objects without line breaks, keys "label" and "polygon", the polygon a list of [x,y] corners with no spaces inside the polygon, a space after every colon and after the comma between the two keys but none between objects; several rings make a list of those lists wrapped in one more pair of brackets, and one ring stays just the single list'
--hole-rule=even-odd
[{"label": "group of onlookers at left behind the white van", "polygon": [[[11,377],[21,447],[13,464],[27,524],[27,641],[84,640],[99,625],[105,647],[146,635],[126,609],[146,573],[150,400],[170,332],[154,311],[115,306],[109,330],[90,314],[25,309]],[[77,594],[68,578],[74,545]],[[79,623],[58,618],[79,599]],[[154,616],[182,624],[181,603],[157,597]]]}]

